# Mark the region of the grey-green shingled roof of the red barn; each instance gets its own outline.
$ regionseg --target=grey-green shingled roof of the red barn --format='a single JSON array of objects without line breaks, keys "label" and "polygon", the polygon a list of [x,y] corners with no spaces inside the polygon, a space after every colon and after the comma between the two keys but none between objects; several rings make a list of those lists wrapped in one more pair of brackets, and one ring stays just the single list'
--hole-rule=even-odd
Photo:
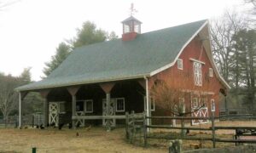
[{"label": "grey-green shingled roof of the red barn", "polygon": [[[207,25],[207,20],[200,20],[138,34],[132,41],[118,39],[76,48],[49,77],[17,90],[29,91],[151,77],[174,65],[183,48],[196,35],[209,35]],[[211,45],[208,43],[206,44],[207,55],[214,65]],[[229,88],[215,66],[213,70],[216,71],[220,82]]]}]

